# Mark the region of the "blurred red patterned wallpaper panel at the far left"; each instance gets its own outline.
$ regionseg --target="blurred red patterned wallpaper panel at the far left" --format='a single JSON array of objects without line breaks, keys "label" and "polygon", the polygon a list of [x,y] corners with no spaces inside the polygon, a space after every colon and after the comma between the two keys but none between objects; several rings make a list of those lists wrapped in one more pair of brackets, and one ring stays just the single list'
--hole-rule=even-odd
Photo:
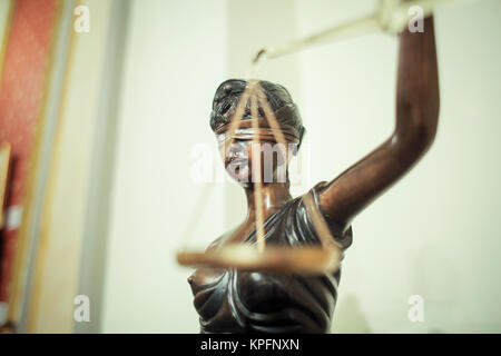
[{"label": "blurred red patterned wallpaper panel at the far left", "polygon": [[8,299],[30,156],[49,72],[57,0],[17,0],[0,82],[0,142],[12,147],[7,225],[0,236],[0,301]]}]

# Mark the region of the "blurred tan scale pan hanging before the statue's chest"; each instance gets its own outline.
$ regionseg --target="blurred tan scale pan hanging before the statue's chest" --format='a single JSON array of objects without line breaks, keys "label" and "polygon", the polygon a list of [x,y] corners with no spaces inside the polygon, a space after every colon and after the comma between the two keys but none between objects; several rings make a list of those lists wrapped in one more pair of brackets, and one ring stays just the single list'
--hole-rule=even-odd
[{"label": "blurred tan scale pan hanging before the statue's chest", "polygon": [[232,244],[203,253],[180,250],[176,254],[178,264],[185,267],[301,274],[336,271],[341,256],[336,246],[267,246],[261,251],[244,244]]}]

